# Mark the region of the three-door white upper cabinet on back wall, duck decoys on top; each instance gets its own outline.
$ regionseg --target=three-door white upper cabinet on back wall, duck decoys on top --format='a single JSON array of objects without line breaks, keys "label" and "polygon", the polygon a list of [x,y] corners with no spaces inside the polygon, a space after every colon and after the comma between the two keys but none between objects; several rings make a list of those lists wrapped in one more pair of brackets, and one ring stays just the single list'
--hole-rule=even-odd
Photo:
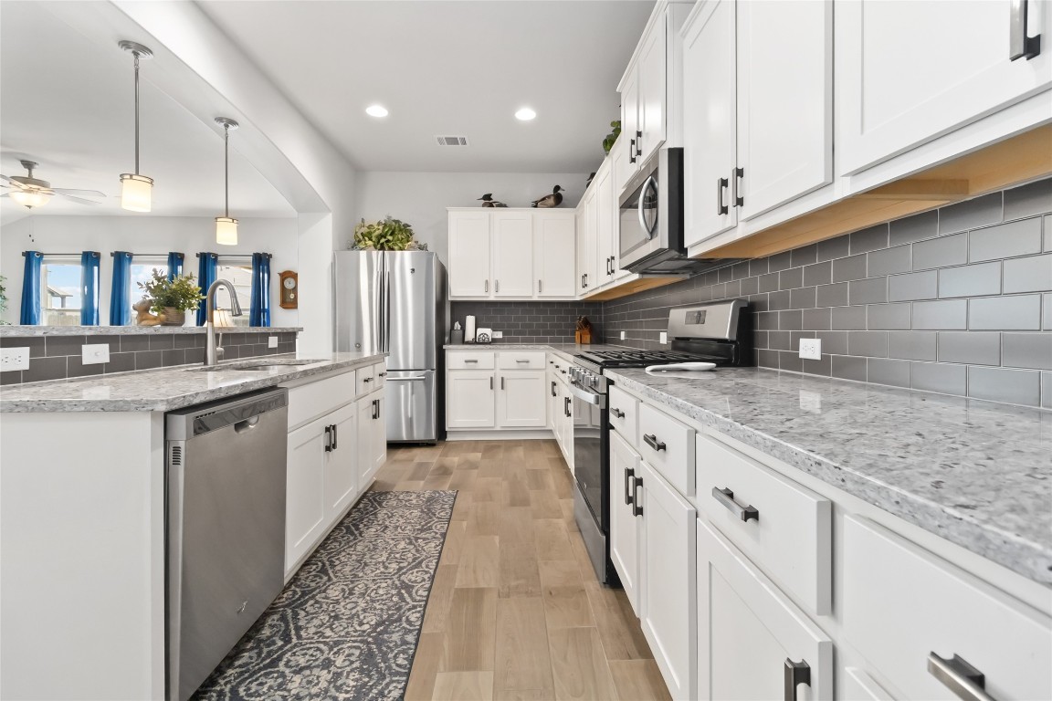
[{"label": "three-door white upper cabinet on back wall, duck decoys on top", "polygon": [[451,300],[574,298],[574,212],[449,210]]}]

